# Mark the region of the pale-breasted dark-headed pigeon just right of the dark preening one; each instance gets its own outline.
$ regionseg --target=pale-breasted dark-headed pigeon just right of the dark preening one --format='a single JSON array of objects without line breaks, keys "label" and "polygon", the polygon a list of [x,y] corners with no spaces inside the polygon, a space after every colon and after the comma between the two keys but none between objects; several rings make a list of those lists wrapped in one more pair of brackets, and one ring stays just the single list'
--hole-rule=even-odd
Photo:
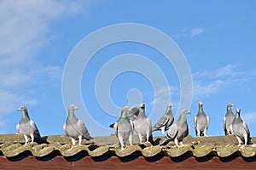
[{"label": "pale-breasted dark-headed pigeon just right of the dark preening one", "polygon": [[146,140],[149,142],[149,138],[152,138],[152,125],[150,119],[145,114],[145,105],[140,105],[139,114],[133,121],[134,128],[140,139],[140,143]]}]

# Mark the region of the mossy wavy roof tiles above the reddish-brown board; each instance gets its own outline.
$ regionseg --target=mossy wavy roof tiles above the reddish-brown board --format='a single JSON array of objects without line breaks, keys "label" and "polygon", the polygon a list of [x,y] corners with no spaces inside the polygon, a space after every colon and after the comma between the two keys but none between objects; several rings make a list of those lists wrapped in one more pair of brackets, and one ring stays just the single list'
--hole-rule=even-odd
[{"label": "mossy wavy roof tiles above the reddish-brown board", "polygon": [[[0,134],[0,156],[6,156],[9,159],[16,156],[36,156],[38,159],[44,159],[46,156],[118,156],[125,158],[127,156],[143,156],[152,158],[154,156],[169,156],[172,159],[181,156],[197,159],[205,156],[218,156],[219,159],[229,156],[241,156],[244,159],[256,157],[256,145],[247,145],[238,147],[238,142],[234,136],[212,136],[193,138],[188,136],[183,139],[181,148],[177,148],[173,142],[166,145],[159,145],[163,137],[154,137],[155,144],[138,144],[137,135],[134,135],[132,146],[120,150],[118,139],[115,136],[95,137],[93,142],[83,139],[83,144],[72,147],[71,140],[66,135],[45,136],[43,144],[26,144],[25,140],[19,134]],[[252,138],[256,143],[256,137]]]}]

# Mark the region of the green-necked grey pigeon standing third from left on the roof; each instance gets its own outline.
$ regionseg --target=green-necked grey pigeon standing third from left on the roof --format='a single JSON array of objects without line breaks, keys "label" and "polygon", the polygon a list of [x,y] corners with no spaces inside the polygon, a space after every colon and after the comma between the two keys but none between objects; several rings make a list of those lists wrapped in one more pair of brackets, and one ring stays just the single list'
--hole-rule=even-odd
[{"label": "green-necked grey pigeon standing third from left on the roof", "polygon": [[126,116],[127,111],[129,111],[129,109],[127,106],[125,106],[121,111],[121,116],[119,117],[118,122],[113,124],[115,135],[119,139],[122,150],[125,148],[125,144],[128,139],[132,145],[133,123]]}]

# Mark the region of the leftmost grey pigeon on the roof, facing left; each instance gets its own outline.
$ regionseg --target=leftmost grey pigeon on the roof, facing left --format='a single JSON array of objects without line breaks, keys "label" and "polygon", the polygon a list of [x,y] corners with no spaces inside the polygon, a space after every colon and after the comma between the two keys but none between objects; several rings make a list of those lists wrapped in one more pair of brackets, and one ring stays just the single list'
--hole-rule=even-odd
[{"label": "leftmost grey pigeon on the roof, facing left", "polygon": [[38,127],[32,120],[30,120],[26,107],[21,105],[18,111],[22,112],[22,117],[17,124],[16,129],[18,133],[24,136],[25,144],[27,144],[29,137],[31,138],[31,143],[34,142],[34,139],[40,139],[41,136]]}]

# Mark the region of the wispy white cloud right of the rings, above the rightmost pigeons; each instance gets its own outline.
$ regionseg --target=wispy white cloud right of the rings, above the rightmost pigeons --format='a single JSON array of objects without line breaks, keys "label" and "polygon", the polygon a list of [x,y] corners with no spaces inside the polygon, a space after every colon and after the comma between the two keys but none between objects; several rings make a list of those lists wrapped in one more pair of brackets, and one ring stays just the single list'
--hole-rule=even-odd
[{"label": "wispy white cloud right of the rings, above the rightmost pigeons", "polygon": [[226,65],[216,71],[195,72],[194,95],[209,96],[234,82],[248,82],[252,77],[239,70],[239,65]]}]

